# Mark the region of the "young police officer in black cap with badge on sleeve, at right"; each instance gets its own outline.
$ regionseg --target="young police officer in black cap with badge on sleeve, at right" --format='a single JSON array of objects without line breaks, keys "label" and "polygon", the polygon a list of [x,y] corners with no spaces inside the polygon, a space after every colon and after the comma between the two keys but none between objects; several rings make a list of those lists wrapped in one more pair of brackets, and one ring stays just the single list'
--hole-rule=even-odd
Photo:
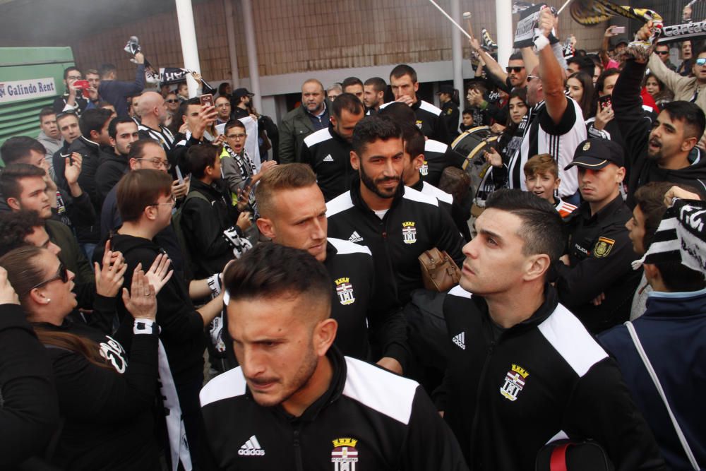
[{"label": "young police officer in black cap with badge on sleeve, at right", "polygon": [[583,203],[568,217],[567,253],[556,263],[559,299],[591,333],[628,320],[640,272],[630,266],[633,254],[625,223],[632,217],[620,186],[625,178],[623,148],[592,138],[578,145]]}]

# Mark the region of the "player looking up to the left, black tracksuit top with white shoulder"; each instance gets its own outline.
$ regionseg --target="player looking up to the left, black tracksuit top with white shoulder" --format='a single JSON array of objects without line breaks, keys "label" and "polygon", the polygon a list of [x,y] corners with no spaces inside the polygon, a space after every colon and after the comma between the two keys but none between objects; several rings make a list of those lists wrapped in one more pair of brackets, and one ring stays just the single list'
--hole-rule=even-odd
[{"label": "player looking up to the left, black tracksuit top with white shoulder", "polygon": [[617,365],[547,282],[561,226],[542,198],[491,193],[443,305],[450,357],[437,405],[472,469],[534,469],[540,448],[568,438],[597,441],[618,470],[662,470]]}]

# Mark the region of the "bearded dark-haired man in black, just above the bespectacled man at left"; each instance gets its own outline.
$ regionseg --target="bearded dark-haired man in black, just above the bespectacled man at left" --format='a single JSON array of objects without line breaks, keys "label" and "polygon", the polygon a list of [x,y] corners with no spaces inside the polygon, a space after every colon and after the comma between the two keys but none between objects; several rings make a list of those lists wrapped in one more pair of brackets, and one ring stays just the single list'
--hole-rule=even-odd
[{"label": "bearded dark-haired man in black, just above the bespectacled man at left", "polygon": [[95,190],[101,208],[105,196],[128,169],[131,144],[140,138],[137,124],[130,117],[112,119],[108,125],[108,135],[115,154],[106,156],[95,172]]}]

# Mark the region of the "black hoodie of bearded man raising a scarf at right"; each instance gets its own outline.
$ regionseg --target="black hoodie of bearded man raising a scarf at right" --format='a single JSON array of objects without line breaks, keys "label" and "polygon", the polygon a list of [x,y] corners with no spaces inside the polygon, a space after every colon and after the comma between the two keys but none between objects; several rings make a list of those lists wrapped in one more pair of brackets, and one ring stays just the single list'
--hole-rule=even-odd
[{"label": "black hoodie of bearded man raising a scarf at right", "polygon": [[657,162],[647,157],[647,142],[650,140],[652,121],[642,110],[640,87],[647,64],[626,61],[613,90],[613,110],[626,146],[629,163],[628,206],[633,208],[633,195],[640,186],[650,181],[670,181],[674,184],[693,186],[706,198],[706,158],[699,153],[697,161],[683,169],[661,169]]}]

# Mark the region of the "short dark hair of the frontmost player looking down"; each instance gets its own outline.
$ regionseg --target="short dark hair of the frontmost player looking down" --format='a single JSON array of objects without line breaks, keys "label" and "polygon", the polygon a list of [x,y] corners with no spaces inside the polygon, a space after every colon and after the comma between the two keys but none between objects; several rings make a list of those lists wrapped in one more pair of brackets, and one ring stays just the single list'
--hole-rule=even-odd
[{"label": "short dark hair of the frontmost player looking down", "polygon": [[305,294],[328,306],[333,286],[323,263],[309,252],[272,242],[258,244],[231,263],[223,285],[231,300]]}]

